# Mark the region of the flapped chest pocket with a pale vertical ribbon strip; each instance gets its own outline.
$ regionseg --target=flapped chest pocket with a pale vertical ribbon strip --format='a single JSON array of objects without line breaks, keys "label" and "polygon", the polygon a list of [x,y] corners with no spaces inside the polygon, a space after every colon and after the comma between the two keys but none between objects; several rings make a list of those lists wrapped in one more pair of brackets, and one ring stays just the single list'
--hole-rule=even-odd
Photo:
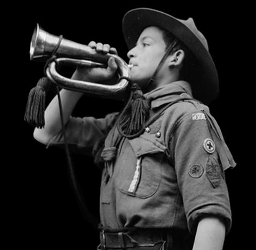
[{"label": "flapped chest pocket with a pale vertical ribbon strip", "polygon": [[138,137],[129,140],[135,158],[117,172],[117,188],[139,198],[153,196],[161,182],[165,146],[154,139]]}]

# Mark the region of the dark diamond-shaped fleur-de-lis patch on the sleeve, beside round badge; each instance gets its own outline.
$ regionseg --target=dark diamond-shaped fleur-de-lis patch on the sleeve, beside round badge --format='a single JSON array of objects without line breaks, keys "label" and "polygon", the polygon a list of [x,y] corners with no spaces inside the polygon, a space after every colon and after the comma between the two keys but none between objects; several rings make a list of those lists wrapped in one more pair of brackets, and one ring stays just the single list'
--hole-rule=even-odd
[{"label": "dark diamond-shaped fleur-de-lis patch on the sleeve, beside round badge", "polygon": [[220,185],[221,170],[218,161],[209,157],[206,162],[206,176],[211,182],[213,188],[217,188]]}]

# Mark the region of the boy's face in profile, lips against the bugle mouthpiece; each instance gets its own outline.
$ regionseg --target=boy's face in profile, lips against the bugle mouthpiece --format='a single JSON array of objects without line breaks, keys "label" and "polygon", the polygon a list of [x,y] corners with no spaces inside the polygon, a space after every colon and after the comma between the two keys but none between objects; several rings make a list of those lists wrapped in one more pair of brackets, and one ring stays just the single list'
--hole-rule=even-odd
[{"label": "boy's face in profile, lips against the bugle mouthpiece", "polygon": [[145,86],[164,56],[165,48],[159,28],[151,26],[143,30],[135,47],[127,53],[129,64],[133,64],[131,80],[140,87]]}]

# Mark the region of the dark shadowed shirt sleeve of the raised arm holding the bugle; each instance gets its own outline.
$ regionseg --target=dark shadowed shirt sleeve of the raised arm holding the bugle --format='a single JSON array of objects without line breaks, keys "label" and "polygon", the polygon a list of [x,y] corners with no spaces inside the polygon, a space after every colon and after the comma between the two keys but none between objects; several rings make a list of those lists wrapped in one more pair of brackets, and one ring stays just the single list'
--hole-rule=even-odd
[{"label": "dark shadowed shirt sleeve of the raised arm holding the bugle", "polygon": [[[70,117],[65,126],[65,133],[71,152],[94,157],[102,141],[113,127],[117,114],[111,113],[102,119]],[[61,148],[65,146],[63,131],[58,132],[50,139],[46,147],[51,146]]]}]

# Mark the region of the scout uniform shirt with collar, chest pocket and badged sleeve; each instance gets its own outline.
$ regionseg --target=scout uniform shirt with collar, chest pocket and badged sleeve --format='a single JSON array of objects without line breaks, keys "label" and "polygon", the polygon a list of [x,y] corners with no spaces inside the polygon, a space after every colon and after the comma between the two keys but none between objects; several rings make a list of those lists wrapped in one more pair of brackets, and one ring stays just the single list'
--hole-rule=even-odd
[{"label": "scout uniform shirt with collar, chest pocket and badged sleeve", "polygon": [[[157,88],[151,115],[180,97],[191,97],[185,81]],[[66,126],[71,149],[95,156],[105,140],[113,149],[117,113],[103,119],[71,118]],[[108,136],[107,136],[108,135]],[[61,132],[49,146],[62,145]],[[104,151],[103,151],[104,152]],[[116,158],[102,170],[100,217],[109,228],[170,228],[194,232],[202,216],[223,218],[231,211],[225,173],[235,162],[207,106],[193,99],[170,106],[137,138],[122,138]]]}]

